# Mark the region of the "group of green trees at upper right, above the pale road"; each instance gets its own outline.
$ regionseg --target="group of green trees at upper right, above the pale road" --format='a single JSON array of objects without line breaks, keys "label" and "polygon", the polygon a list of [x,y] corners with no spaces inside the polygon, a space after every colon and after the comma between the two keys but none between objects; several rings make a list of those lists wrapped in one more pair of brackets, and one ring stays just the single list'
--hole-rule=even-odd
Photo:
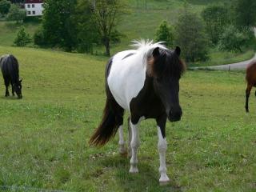
[{"label": "group of green trees at upper right, above the pale road", "polygon": [[190,11],[185,3],[178,22],[170,26],[164,21],[156,32],[156,40],[167,46],[182,47],[187,62],[206,61],[209,47],[231,52],[256,48],[256,1],[234,0],[222,5],[206,6],[201,15]]}]

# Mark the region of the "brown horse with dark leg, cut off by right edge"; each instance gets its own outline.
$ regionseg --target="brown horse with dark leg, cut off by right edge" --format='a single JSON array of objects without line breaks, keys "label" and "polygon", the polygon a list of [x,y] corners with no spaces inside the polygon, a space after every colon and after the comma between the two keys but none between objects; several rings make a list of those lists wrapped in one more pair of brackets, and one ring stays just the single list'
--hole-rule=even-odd
[{"label": "brown horse with dark leg, cut off by right edge", "polygon": [[[256,86],[256,60],[250,62],[246,68],[246,112],[249,112],[249,97],[250,97],[250,90],[253,86]],[[255,91],[256,96],[256,91]]]}]

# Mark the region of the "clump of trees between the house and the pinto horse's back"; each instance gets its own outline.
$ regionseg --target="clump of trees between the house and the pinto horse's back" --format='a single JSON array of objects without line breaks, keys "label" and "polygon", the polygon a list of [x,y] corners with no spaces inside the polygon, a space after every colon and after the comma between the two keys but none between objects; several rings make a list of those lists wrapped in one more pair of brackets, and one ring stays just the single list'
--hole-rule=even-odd
[{"label": "clump of trees between the house and the pinto horse's back", "polygon": [[125,10],[124,0],[45,0],[34,42],[87,53],[103,45],[110,55],[110,42],[120,41],[116,26]]}]

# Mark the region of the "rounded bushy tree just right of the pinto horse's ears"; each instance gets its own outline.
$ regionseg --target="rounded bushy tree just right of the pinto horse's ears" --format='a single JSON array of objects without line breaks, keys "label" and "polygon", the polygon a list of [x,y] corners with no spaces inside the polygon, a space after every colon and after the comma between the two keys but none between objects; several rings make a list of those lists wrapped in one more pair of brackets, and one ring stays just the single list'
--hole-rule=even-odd
[{"label": "rounded bushy tree just right of the pinto horse's ears", "polygon": [[208,58],[208,39],[203,22],[186,7],[175,26],[175,42],[181,46],[187,62],[204,61]]}]

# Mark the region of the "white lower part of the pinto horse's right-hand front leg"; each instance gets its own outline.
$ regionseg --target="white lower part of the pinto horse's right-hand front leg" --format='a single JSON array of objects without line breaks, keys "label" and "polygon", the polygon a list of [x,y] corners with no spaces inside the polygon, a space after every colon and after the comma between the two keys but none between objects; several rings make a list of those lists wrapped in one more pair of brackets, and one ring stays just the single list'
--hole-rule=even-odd
[{"label": "white lower part of the pinto horse's right-hand front leg", "polygon": [[168,178],[166,174],[166,150],[167,150],[167,143],[166,138],[162,138],[162,132],[160,127],[158,126],[158,152],[159,152],[159,158],[160,158],[160,183],[166,183],[170,181],[170,178]]}]

